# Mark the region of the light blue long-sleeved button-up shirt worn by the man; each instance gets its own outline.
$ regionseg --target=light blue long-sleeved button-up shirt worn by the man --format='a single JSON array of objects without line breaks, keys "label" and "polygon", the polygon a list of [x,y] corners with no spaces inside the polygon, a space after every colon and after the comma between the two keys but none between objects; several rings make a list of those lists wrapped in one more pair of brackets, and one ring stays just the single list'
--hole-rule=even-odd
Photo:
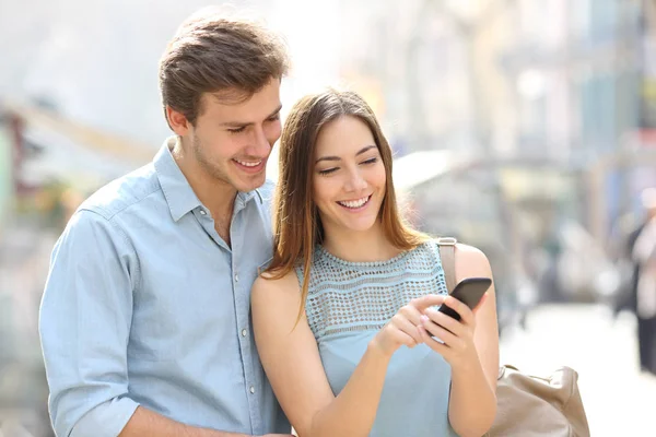
[{"label": "light blue long-sleeved button-up shirt worn by the man", "polygon": [[249,318],[272,185],[237,194],[231,248],[174,143],[86,200],[52,251],[39,332],[58,436],[117,436],[138,405],[225,432],[291,429]]}]

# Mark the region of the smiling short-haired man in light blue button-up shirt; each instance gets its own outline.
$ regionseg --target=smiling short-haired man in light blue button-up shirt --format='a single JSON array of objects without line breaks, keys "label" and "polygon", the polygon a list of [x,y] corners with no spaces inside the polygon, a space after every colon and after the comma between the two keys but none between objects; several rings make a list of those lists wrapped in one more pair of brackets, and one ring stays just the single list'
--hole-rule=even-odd
[{"label": "smiling short-haired man in light blue button-up shirt", "polygon": [[58,436],[291,432],[249,322],[286,70],[272,33],[207,11],[168,45],[176,135],[86,200],[52,252],[39,331]]}]

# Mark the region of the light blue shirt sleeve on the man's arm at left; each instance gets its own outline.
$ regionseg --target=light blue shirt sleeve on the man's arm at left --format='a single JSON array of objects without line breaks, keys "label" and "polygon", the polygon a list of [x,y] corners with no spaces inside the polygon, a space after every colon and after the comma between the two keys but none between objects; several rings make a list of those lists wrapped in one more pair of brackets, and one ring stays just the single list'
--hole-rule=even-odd
[{"label": "light blue shirt sleeve on the man's arm at left", "polygon": [[127,344],[137,256],[118,226],[78,211],[50,259],[39,335],[57,436],[117,436],[129,398]]}]

